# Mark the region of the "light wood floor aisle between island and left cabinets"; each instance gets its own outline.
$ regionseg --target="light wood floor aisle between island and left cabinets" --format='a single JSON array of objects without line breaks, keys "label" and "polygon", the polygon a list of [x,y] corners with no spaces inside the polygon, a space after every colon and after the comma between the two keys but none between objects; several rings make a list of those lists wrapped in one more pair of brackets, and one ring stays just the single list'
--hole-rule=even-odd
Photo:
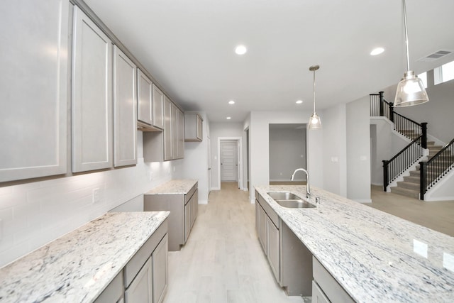
[{"label": "light wood floor aisle between island and left cabinets", "polygon": [[211,191],[199,205],[189,239],[169,253],[165,303],[304,302],[275,282],[255,233],[254,205],[234,182]]}]

